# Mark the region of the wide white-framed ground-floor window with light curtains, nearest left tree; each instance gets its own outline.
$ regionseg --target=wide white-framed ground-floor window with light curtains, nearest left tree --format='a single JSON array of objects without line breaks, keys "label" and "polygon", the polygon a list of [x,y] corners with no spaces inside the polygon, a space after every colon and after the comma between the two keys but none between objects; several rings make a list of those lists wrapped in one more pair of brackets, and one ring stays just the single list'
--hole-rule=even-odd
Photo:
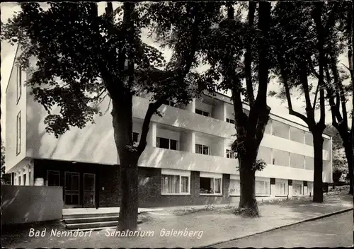
[{"label": "wide white-framed ground-floor window with light curtains, nearest left tree", "polygon": [[190,177],[188,175],[161,175],[161,194],[189,194]]}]

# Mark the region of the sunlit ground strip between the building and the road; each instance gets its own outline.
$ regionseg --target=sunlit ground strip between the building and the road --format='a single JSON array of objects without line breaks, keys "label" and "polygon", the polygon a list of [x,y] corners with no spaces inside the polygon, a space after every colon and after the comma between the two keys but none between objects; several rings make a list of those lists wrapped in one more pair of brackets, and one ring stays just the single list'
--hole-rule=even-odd
[{"label": "sunlit ground strip between the building and the road", "polygon": [[[271,228],[294,224],[297,221],[348,208],[353,208],[353,196],[343,195],[325,196],[324,203],[321,204],[313,203],[311,199],[260,204],[261,217],[255,219],[236,216],[232,213],[233,209],[224,209],[224,207],[193,213],[188,213],[188,210],[187,213],[184,210],[178,212],[164,210],[142,214],[147,217],[146,221],[139,225],[139,229],[153,231],[154,236],[122,238],[111,236],[112,233],[106,231],[97,231],[86,237],[67,238],[52,236],[52,228],[58,228],[59,231],[59,227],[42,225],[35,229],[43,231],[47,228],[44,237],[30,237],[27,228],[16,233],[3,234],[1,241],[6,248],[193,248],[207,245],[213,247],[216,243],[250,236]],[[171,233],[168,234],[167,231]],[[186,236],[173,236],[173,231],[183,231]]]}]

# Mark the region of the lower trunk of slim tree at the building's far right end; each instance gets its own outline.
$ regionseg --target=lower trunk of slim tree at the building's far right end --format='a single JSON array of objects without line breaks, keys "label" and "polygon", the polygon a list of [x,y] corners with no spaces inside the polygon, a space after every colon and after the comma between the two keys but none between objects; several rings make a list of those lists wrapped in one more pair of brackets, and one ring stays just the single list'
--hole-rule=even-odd
[{"label": "lower trunk of slim tree at the building's far right end", "polygon": [[314,197],[313,202],[324,202],[322,172],[324,138],[321,132],[313,132],[314,141]]}]

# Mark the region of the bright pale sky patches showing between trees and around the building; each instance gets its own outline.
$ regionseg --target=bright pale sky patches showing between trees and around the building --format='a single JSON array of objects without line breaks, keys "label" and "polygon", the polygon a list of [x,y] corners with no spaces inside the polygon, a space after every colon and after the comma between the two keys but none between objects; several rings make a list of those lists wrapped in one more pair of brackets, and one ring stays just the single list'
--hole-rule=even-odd
[{"label": "bright pale sky patches showing between trees and around the building", "polygon": [[[115,8],[115,4],[117,2],[113,3],[113,8]],[[6,23],[8,18],[12,18],[13,15],[15,14],[16,11],[21,11],[20,6],[18,6],[17,3],[15,2],[5,2],[0,4],[1,7],[1,21],[3,23]],[[101,2],[98,4],[98,13],[103,13],[105,7],[105,3]],[[142,33],[142,40],[146,42],[148,45],[152,45],[156,48],[159,48],[159,45],[152,40],[152,38],[147,37],[147,33]],[[161,50],[161,49],[160,49]],[[164,56],[168,60],[171,58],[171,51],[168,49],[161,50],[164,52]],[[5,99],[5,91],[6,91],[6,86],[8,83],[8,78],[11,73],[11,68],[13,66],[13,60],[15,59],[15,52],[16,52],[16,46],[11,46],[8,42],[6,41],[1,41],[1,93],[2,93],[2,98],[1,98],[1,110],[2,110],[2,115],[1,115],[1,137],[2,139],[5,138],[5,120],[6,120],[6,113],[5,113],[5,104],[4,104],[4,99]],[[340,57],[341,62],[343,64],[346,64],[348,66],[348,59],[344,55]],[[271,81],[270,84],[268,85],[268,91],[278,91],[279,90],[279,83],[277,81]],[[299,99],[297,99],[299,97]],[[292,120],[294,122],[298,122],[299,124],[306,125],[302,120],[300,120],[297,117],[294,117],[292,115],[289,115],[289,110],[287,109],[287,103],[283,102],[282,100],[275,98],[275,97],[268,97],[267,100],[268,105],[272,109],[271,112],[280,115],[282,117],[287,118],[288,120]],[[351,106],[349,105],[351,101],[348,101],[347,105],[347,110],[351,110]],[[304,102],[301,99],[301,96],[299,95],[294,95],[292,98],[292,105],[293,109],[295,111],[304,113]],[[319,112],[316,112],[316,117],[319,117]],[[331,112],[329,108],[326,108],[326,123],[331,123]],[[349,122],[350,124],[350,122]]]}]

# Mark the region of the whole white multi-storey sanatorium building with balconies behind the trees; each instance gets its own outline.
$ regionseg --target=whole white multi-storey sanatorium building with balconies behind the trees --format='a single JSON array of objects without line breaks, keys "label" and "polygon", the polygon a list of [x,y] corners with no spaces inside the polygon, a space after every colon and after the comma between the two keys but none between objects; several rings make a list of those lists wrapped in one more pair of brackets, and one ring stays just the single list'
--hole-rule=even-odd
[{"label": "whole white multi-storey sanatorium building with balconies behind the trees", "polygon": [[[119,158],[110,111],[95,124],[72,128],[56,139],[45,132],[47,112],[24,86],[28,74],[13,66],[6,88],[6,173],[13,185],[63,186],[64,207],[117,207]],[[134,140],[139,141],[149,100],[133,99]],[[139,159],[139,205],[237,202],[238,160],[232,101],[205,93],[187,106],[168,102],[154,115],[147,148]],[[109,108],[109,100],[101,103]],[[249,107],[244,105],[247,112]],[[307,127],[271,114],[258,158],[256,196],[297,196],[313,192],[314,150]],[[324,183],[332,182],[332,140],[324,135]]]}]

